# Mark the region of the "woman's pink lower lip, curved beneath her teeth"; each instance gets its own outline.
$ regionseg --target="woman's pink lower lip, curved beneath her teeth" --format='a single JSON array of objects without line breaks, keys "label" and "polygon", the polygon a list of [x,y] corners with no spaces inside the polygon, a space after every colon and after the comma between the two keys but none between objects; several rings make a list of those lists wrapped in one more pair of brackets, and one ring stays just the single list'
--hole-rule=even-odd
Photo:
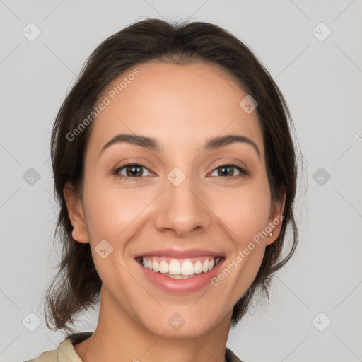
[{"label": "woman's pink lower lip, curved beneath her teeth", "polygon": [[214,269],[211,269],[207,273],[196,274],[197,276],[192,276],[191,278],[187,279],[173,279],[169,276],[155,273],[151,269],[145,268],[137,261],[136,263],[139,264],[139,267],[141,267],[148,280],[151,281],[154,286],[168,293],[186,294],[192,293],[194,291],[199,291],[207,284],[211,284],[211,279],[218,274],[219,269],[221,268],[220,266],[221,264],[223,264],[224,260],[225,259],[221,259],[216,267],[214,267]]}]

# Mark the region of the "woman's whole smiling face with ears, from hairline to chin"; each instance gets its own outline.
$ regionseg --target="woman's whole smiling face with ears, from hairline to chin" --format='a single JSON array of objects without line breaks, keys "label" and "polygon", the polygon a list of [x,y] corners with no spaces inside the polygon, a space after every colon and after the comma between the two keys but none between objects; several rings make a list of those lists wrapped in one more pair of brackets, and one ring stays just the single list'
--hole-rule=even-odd
[{"label": "woman's whole smiling face with ears, from hairline to chin", "polygon": [[[228,329],[281,227],[271,224],[282,209],[272,213],[257,112],[245,112],[247,93],[217,66],[136,69],[110,84],[110,103],[93,121],[83,201],[70,209],[73,237],[91,243],[115,323],[127,315],[170,338]],[[123,136],[103,148],[120,134],[134,142]]]}]

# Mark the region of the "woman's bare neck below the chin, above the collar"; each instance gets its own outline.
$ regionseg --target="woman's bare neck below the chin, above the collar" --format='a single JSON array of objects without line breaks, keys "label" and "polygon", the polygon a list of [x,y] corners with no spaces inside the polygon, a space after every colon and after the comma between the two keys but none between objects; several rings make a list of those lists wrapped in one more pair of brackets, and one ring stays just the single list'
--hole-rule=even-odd
[{"label": "woman's bare neck below the chin, above the collar", "polygon": [[146,329],[102,288],[97,328],[74,349],[83,362],[224,362],[230,317],[228,314],[213,329],[197,337],[187,333],[179,339],[170,338],[165,332],[155,334]]}]

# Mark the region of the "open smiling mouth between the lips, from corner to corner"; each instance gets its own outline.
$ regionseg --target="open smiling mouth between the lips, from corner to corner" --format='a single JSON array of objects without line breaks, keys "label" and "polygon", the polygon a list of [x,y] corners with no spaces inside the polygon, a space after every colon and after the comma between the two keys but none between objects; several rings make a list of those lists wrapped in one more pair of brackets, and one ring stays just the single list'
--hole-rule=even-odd
[{"label": "open smiling mouth between the lips, from corner to corner", "polygon": [[136,262],[155,274],[162,274],[171,279],[189,279],[208,274],[209,271],[225,259],[223,256],[204,255],[185,259],[144,255],[136,257]]}]

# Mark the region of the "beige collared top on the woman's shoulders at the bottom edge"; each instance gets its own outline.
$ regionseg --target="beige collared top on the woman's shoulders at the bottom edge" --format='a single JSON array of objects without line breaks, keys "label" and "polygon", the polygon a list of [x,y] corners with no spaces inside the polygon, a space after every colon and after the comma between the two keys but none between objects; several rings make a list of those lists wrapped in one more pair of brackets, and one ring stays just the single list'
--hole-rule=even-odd
[{"label": "beige collared top on the woman's shoulders at the bottom edge", "polygon": [[[46,351],[40,354],[37,358],[30,359],[25,362],[82,362],[81,358],[76,353],[73,344],[81,343],[88,337],[91,337],[93,332],[80,332],[70,334],[59,344],[57,350]],[[225,351],[226,362],[243,362],[228,347]]]}]

